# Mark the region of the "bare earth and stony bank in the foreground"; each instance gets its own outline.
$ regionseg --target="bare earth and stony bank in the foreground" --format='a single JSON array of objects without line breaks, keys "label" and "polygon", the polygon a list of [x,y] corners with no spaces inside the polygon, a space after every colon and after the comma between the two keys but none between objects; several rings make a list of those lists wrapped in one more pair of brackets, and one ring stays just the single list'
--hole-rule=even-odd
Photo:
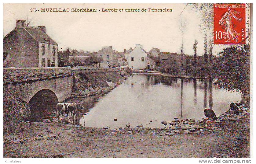
[{"label": "bare earth and stony bank in the foreground", "polygon": [[24,125],[18,135],[4,136],[3,156],[249,158],[249,110],[240,106],[239,114],[229,110],[219,120],[183,120],[185,125],[166,121],[170,128],[131,125],[135,128],[119,130],[38,122]]}]

